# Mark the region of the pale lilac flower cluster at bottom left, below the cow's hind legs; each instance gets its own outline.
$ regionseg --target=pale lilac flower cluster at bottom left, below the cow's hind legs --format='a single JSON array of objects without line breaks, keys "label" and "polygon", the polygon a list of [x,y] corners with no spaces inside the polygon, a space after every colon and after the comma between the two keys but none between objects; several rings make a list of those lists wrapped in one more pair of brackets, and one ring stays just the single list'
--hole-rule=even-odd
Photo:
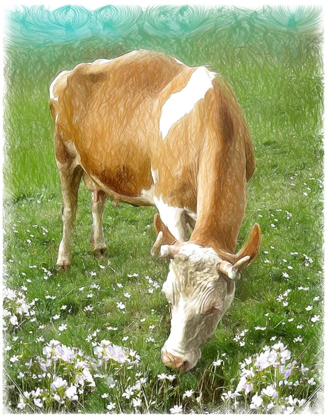
[{"label": "pale lilac flower cluster at bottom left, below the cow's hind legs", "polygon": [[[17,408],[45,411],[59,410],[63,405],[82,404],[86,393],[95,390],[95,378],[108,378],[100,367],[113,360],[119,364],[138,363],[135,351],[101,341],[94,347],[97,359],[86,355],[81,349],[66,346],[52,339],[43,347],[43,356],[36,356],[26,362],[27,370],[17,376],[25,383],[38,382],[36,390],[24,391]],[[130,355],[130,358],[128,357]],[[25,385],[26,386],[26,385]]]}]

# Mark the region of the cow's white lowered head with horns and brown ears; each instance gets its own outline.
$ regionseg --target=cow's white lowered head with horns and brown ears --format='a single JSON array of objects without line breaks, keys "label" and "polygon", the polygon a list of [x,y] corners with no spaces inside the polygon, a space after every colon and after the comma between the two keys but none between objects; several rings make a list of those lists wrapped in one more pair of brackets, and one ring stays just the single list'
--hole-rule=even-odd
[{"label": "cow's white lowered head with horns and brown ears", "polygon": [[151,254],[170,259],[162,291],[171,307],[171,331],[162,348],[167,367],[188,371],[201,357],[200,346],[217,328],[234,299],[235,281],[257,255],[261,230],[255,224],[236,255],[192,242],[177,242],[160,216],[155,215],[157,240]]}]

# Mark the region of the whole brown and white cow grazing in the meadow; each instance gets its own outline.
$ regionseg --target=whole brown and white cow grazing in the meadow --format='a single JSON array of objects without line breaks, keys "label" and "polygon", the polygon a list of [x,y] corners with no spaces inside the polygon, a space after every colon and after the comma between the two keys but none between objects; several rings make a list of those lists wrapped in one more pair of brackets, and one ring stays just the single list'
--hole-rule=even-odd
[{"label": "whole brown and white cow grazing in the meadow", "polygon": [[[164,291],[168,367],[188,371],[234,298],[235,280],[257,255],[255,224],[234,253],[254,172],[250,133],[223,78],[161,52],[138,50],[64,71],[50,87],[63,190],[57,265],[71,263],[81,177],[92,192],[93,250],[105,249],[102,212],[116,203],[155,205],[151,253],[170,259]],[[187,224],[193,229],[190,240]]]}]

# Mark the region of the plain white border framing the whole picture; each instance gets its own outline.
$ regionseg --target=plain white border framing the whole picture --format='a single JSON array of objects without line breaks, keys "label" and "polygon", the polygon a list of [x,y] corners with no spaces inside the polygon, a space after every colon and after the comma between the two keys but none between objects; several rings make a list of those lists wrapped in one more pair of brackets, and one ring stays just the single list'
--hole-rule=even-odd
[{"label": "plain white border framing the whole picture", "polygon": [[[22,1],[13,1],[11,2],[9,5],[7,4],[6,6],[4,6],[1,9],[1,22],[3,23],[3,18],[4,18],[4,13],[6,13],[6,10],[13,10],[15,8],[20,8],[22,6],[35,6],[35,5],[45,5],[47,6],[47,8],[49,8],[49,10],[54,10],[56,8],[59,8],[61,6],[66,6],[68,4],[71,5],[77,5],[77,6],[84,6],[86,9],[88,10],[95,10],[97,8],[100,8],[102,6],[106,6],[108,4],[113,4],[115,6],[141,6],[141,8],[147,8],[148,6],[162,6],[162,5],[183,5],[183,4],[190,4],[190,5],[196,5],[196,6],[203,6],[204,8],[208,8],[208,7],[214,7],[214,6],[238,6],[241,8],[258,8],[261,6],[284,6],[284,7],[289,7],[291,9],[297,7],[297,6],[321,6],[323,8],[323,27],[326,28],[326,23],[328,22],[328,5],[326,1],[298,1],[298,0],[289,0],[289,1],[248,1],[246,3],[246,1],[225,1],[224,3],[220,3],[219,1],[206,1],[205,3],[202,3],[202,1],[181,1],[181,0],[154,0],[154,1],[144,1],[144,0],[139,0],[139,1],[127,1],[127,2],[118,2],[118,1],[100,1],[100,0],[80,0],[80,1],[59,1],[59,0],[45,0],[45,1],[40,1],[40,0],[22,0]],[[3,13],[4,12],[4,13]],[[329,105],[329,99],[328,99],[328,84],[327,84],[327,73],[326,73],[326,69],[329,68],[329,61],[328,61],[328,36],[326,33],[326,30],[324,31],[325,34],[325,43],[324,43],[324,50],[323,50],[323,59],[324,59],[324,65],[323,68],[325,69],[325,112],[324,112],[324,130],[325,133],[328,133],[328,105]],[[3,52],[3,37],[1,38],[1,50]],[[1,88],[1,93],[2,93],[2,98],[3,98],[3,73],[1,74],[1,84],[0,84],[0,88]],[[1,127],[3,126],[3,100],[1,100],[1,112],[0,112],[0,122],[1,122]],[[2,133],[2,142],[1,142],[1,173],[0,173],[0,198],[1,198],[1,203],[3,202],[3,173],[2,173],[2,168],[3,168],[3,144],[4,144],[4,134]],[[325,221],[328,220],[328,204],[329,204],[329,194],[326,193],[327,192],[327,184],[329,182],[329,158],[328,158],[328,145],[327,145],[327,140],[326,140],[326,135],[323,141],[323,145],[324,145],[324,149],[325,149],[325,158],[324,158],[324,198],[325,198],[325,211],[324,211],[324,216],[325,216]],[[0,228],[1,231],[3,231],[3,224],[2,224],[2,216],[1,216],[1,220],[0,220]],[[329,228],[328,228],[328,223],[325,222],[325,228],[324,228],[324,240],[325,240],[325,244],[324,244],[324,255],[325,255],[325,262],[324,262],[324,271],[325,271],[325,296],[328,295],[328,278],[327,278],[327,272],[328,272],[328,258],[326,258],[326,253],[328,253],[328,233],[329,233]],[[1,235],[1,240],[0,240],[0,274],[1,274],[1,278],[3,277],[3,266],[2,266],[2,260],[3,260],[3,237]],[[327,304],[326,304],[327,306]],[[324,376],[326,377],[326,381],[325,381],[325,390],[323,390],[323,394],[326,395],[327,397],[325,397],[324,399],[324,411],[326,413],[329,413],[329,390],[328,390],[328,385],[326,384],[326,382],[328,382],[328,377],[329,377],[329,367],[328,367],[328,338],[327,338],[327,326],[328,326],[328,320],[329,320],[329,314],[328,314],[328,309],[325,306],[326,310],[325,310],[325,325],[326,325],[326,329],[325,329],[325,367],[324,367]],[[0,342],[0,347],[2,349],[3,346],[3,340],[2,340],[2,330],[1,330],[1,342]],[[1,351],[2,353],[2,351]],[[2,369],[2,356],[0,357],[0,368],[1,368],[1,372],[3,371]],[[3,407],[3,381],[1,380],[0,383],[0,398],[1,398],[1,406]],[[1,409],[1,412],[3,412],[3,409]],[[5,418],[20,418],[22,419],[22,415],[16,415],[16,414],[9,414],[9,413],[5,413],[3,412],[3,417]],[[326,413],[321,414],[321,415],[317,415],[316,418],[325,418],[327,415]],[[39,417],[37,415],[29,415],[29,417]],[[52,417],[55,418],[61,418],[62,415],[60,414],[54,414],[52,415]],[[83,418],[93,418],[95,416],[103,416],[103,415],[94,415],[94,414],[84,414]],[[118,416],[119,418],[122,418],[122,415],[114,415],[114,417]],[[138,416],[144,416],[144,415],[138,415]],[[170,416],[170,415],[162,415],[163,416]],[[178,415],[180,417],[182,417],[183,415]],[[204,416],[204,415],[201,415]],[[250,418],[254,418],[254,415],[243,415],[243,416],[250,416]],[[77,419],[82,419],[82,414],[70,414],[71,418],[77,418]],[[112,416],[113,417],[113,416]],[[273,417],[273,416],[272,416]],[[274,415],[274,417],[280,417],[281,415]],[[147,415],[147,418],[159,418],[159,415]],[[236,418],[236,415],[226,415],[225,418]]]}]

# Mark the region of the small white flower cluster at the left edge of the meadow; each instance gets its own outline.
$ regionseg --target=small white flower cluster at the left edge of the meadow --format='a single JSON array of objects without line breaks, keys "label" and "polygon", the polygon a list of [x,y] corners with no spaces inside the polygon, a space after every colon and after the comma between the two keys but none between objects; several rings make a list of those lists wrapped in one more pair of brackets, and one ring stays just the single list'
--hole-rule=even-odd
[{"label": "small white flower cluster at the left edge of the meadow", "polygon": [[17,328],[24,318],[35,314],[34,305],[38,301],[35,298],[31,302],[26,302],[25,294],[22,291],[3,288],[3,330]]}]

